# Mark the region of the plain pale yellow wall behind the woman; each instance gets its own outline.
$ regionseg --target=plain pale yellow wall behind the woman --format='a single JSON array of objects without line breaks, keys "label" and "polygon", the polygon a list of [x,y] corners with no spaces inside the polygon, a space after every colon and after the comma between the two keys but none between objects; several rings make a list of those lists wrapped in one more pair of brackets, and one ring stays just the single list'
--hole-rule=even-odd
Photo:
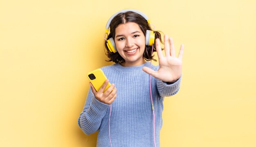
[{"label": "plain pale yellow wall behind the woman", "polygon": [[86,73],[112,64],[105,25],[126,8],[185,46],[161,147],[256,147],[255,0],[1,0],[0,146],[96,145],[77,125]]}]

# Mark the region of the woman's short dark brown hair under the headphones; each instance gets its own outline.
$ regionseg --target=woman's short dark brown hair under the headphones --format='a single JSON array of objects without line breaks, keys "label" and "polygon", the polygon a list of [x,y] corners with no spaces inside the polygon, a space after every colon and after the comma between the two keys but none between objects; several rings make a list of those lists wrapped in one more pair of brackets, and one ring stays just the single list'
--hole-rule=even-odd
[{"label": "woman's short dark brown hair under the headphones", "polygon": [[[115,16],[112,21],[110,22],[110,33],[108,34],[108,38],[113,38],[115,40],[115,29],[120,25],[124,24],[126,22],[135,22],[139,25],[141,31],[144,33],[144,36],[146,36],[146,30],[152,30],[150,25],[148,24],[147,20],[139,15],[138,13],[128,11],[125,13],[119,13],[117,16]],[[159,38],[160,42],[162,42],[161,34],[159,31],[154,31],[155,33],[155,39]],[[162,42],[163,43],[163,42]],[[122,58],[118,52],[112,53],[107,46],[107,41],[105,41],[105,48],[106,48],[106,55],[108,56],[109,60],[106,61],[113,61],[115,63],[124,63],[125,60]],[[143,53],[143,58],[147,61],[149,60],[154,60],[154,56],[151,54],[152,51],[152,46],[146,45],[144,53]],[[156,51],[155,44],[153,44],[153,51]]]}]

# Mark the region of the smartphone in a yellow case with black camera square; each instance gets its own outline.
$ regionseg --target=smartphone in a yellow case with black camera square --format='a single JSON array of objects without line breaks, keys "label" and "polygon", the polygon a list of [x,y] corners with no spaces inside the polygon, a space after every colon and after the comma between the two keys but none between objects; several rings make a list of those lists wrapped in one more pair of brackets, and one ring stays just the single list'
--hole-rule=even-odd
[{"label": "smartphone in a yellow case with black camera square", "polygon": [[[103,85],[103,83],[107,80],[107,77],[103,73],[101,69],[95,69],[94,71],[91,71],[87,74],[88,79],[92,83],[93,87],[96,89],[96,91],[99,91],[100,87]],[[110,83],[108,82],[108,85],[106,86],[105,92],[108,87],[110,87]]]}]

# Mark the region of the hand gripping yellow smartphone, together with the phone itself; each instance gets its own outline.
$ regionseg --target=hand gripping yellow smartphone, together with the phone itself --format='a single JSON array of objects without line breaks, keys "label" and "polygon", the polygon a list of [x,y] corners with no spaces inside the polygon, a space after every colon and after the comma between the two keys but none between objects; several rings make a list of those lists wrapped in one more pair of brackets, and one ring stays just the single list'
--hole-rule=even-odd
[{"label": "hand gripping yellow smartphone, together with the phone itself", "polygon": [[100,102],[110,105],[117,97],[117,89],[110,84],[101,69],[91,71],[87,75],[95,98]]}]

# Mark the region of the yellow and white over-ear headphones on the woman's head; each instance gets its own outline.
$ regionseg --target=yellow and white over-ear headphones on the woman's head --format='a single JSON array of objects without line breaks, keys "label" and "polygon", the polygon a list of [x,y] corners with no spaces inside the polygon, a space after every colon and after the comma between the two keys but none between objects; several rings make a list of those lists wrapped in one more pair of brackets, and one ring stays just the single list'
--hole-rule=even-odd
[{"label": "yellow and white over-ear headphones on the woman's head", "polygon": [[[150,23],[150,20],[148,19],[148,17],[144,13],[142,13],[138,10],[134,10],[134,9],[124,9],[124,10],[118,11],[117,13],[115,13],[114,15],[112,15],[110,17],[110,19],[108,20],[107,25],[106,25],[106,33],[108,33],[108,28],[110,26],[110,22],[112,21],[112,19],[115,16],[117,16],[119,13],[125,13],[125,12],[128,12],[128,11],[138,13],[139,15],[141,15],[142,17],[144,17],[147,20],[148,24]],[[146,37],[146,45],[151,46],[151,45],[153,45],[153,43],[155,43],[155,33],[154,33],[154,31],[147,30],[145,37]],[[112,53],[117,52],[117,47],[115,45],[115,41],[114,41],[113,38],[109,38],[107,40],[107,46],[108,46],[108,49],[110,50],[110,52],[112,52]]]}]

